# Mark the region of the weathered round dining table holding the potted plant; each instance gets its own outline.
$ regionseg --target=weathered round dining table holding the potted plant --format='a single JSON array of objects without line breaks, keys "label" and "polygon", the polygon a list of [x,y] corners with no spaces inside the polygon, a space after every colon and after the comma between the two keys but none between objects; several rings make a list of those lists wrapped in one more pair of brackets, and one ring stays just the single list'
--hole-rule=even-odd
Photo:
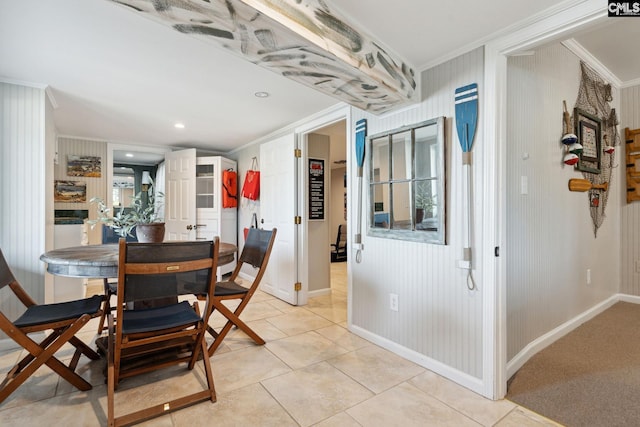
[{"label": "weathered round dining table holding the potted plant", "polygon": [[[236,245],[220,242],[218,265],[233,262]],[[47,271],[57,276],[103,279],[118,277],[118,244],[73,246],[40,255]]]}]

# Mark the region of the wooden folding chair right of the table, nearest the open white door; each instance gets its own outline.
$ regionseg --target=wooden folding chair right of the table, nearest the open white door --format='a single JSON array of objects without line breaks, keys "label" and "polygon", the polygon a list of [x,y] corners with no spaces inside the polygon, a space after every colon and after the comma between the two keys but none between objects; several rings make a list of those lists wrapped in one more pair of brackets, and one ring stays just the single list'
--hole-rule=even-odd
[{"label": "wooden folding chair right of the table, nearest the open white door", "polygon": [[[213,336],[213,343],[209,346],[209,356],[212,356],[222,340],[229,333],[233,326],[237,326],[244,333],[249,335],[256,344],[264,344],[264,340],[260,338],[245,322],[240,319],[240,314],[245,309],[251,297],[258,289],[258,285],[264,276],[269,257],[271,255],[271,249],[273,248],[273,242],[276,239],[277,229],[273,230],[260,230],[258,228],[250,228],[247,235],[247,239],[236,264],[236,268],[231,273],[228,280],[216,283],[215,291],[211,302],[215,310],[218,310],[224,317],[227,318],[227,322],[220,329],[216,331],[210,325],[207,325],[207,331]],[[249,287],[242,286],[237,283],[238,274],[245,265],[251,265],[257,268],[258,271],[253,279],[253,282]],[[199,299],[202,299],[199,296]],[[234,311],[231,311],[223,301],[227,300],[239,300],[240,304]]]}]

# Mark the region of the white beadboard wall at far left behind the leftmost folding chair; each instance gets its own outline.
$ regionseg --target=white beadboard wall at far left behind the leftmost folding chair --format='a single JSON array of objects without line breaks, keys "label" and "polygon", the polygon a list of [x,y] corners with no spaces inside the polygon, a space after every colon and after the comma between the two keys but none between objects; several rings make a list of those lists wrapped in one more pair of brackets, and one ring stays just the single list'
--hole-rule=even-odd
[{"label": "white beadboard wall at far left behind the leftmost folding chair", "polygon": [[[43,89],[0,82],[0,248],[13,274],[38,302],[44,302],[45,295],[45,265],[39,259],[46,249],[50,132],[45,108]],[[7,296],[0,293],[0,308],[16,318],[24,306]]]}]

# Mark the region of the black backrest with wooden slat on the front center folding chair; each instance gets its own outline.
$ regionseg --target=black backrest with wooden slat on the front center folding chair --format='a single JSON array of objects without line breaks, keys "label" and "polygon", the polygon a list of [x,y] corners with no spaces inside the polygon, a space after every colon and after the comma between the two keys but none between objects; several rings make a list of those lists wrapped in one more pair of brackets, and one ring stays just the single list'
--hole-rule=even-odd
[{"label": "black backrest with wooden slat on the front center folding chair", "polygon": [[124,302],[207,293],[217,253],[211,241],[126,245]]}]

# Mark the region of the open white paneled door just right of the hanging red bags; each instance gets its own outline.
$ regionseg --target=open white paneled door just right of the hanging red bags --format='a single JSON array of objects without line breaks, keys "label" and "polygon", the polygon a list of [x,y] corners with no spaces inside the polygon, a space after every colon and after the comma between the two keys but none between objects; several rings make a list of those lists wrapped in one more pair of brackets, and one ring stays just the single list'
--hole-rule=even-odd
[{"label": "open white paneled door just right of the hanging red bags", "polygon": [[298,159],[294,156],[295,134],[288,134],[260,146],[259,226],[276,227],[278,234],[260,287],[263,291],[296,305],[298,292],[296,182]]}]

